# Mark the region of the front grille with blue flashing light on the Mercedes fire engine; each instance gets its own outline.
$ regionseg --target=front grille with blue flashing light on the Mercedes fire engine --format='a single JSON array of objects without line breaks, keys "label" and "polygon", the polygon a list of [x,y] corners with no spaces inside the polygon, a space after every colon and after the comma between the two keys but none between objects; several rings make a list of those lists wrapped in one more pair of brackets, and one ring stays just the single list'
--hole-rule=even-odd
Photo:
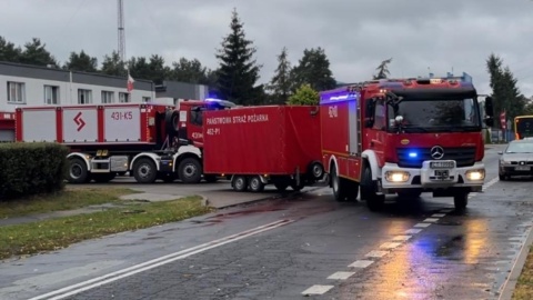
[{"label": "front grille with blue flashing light on the Mercedes fire engine", "polygon": [[[475,162],[475,147],[443,148],[444,157],[440,160],[455,160],[457,167],[473,166]],[[415,157],[410,157],[416,153]],[[401,168],[422,168],[424,160],[434,160],[431,148],[398,148],[398,166]]]}]

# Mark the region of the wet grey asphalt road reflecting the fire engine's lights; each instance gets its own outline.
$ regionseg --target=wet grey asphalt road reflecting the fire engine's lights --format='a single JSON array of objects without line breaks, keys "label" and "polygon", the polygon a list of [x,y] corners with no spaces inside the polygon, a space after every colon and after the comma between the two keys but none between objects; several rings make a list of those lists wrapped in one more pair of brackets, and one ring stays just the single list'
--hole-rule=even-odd
[{"label": "wet grey asphalt road reflecting the fire engine's lights", "polygon": [[428,196],[373,213],[319,189],[3,263],[0,298],[499,299],[533,200],[529,180],[491,180],[495,150],[463,213]]}]

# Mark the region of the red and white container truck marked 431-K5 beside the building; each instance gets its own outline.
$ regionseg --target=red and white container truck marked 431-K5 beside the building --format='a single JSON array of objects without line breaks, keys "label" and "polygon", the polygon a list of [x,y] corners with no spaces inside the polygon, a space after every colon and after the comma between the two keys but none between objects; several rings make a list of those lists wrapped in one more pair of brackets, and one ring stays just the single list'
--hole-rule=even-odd
[{"label": "red and white container truck marked 431-K5 beside the building", "polygon": [[[202,179],[202,112],[229,101],[163,104],[23,107],[16,111],[16,141],[69,147],[72,183],[107,182],[130,172],[140,183]],[[204,177],[214,181],[214,177]]]}]

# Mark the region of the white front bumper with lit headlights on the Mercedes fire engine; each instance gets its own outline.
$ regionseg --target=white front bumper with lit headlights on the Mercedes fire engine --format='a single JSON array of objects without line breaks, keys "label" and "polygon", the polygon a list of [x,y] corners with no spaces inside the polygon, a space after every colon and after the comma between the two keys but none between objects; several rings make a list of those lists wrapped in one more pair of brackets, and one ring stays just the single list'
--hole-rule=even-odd
[{"label": "white front bumper with lit headlights on the Mercedes fire engine", "polygon": [[[381,187],[384,193],[404,189],[434,191],[457,188],[473,192],[481,191],[485,179],[485,166],[475,162],[470,167],[434,169],[424,161],[421,169],[400,168],[396,163],[385,163],[381,171]],[[455,166],[455,163],[453,163]]]}]

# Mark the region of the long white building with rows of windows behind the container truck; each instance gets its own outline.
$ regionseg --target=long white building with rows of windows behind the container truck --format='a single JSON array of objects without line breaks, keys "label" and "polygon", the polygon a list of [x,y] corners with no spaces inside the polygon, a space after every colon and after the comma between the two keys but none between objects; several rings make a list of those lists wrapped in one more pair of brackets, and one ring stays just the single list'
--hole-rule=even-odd
[{"label": "long white building with rows of windows behind the container truck", "polygon": [[149,102],[155,99],[152,81],[0,62],[0,111],[20,106],[69,106]]}]

